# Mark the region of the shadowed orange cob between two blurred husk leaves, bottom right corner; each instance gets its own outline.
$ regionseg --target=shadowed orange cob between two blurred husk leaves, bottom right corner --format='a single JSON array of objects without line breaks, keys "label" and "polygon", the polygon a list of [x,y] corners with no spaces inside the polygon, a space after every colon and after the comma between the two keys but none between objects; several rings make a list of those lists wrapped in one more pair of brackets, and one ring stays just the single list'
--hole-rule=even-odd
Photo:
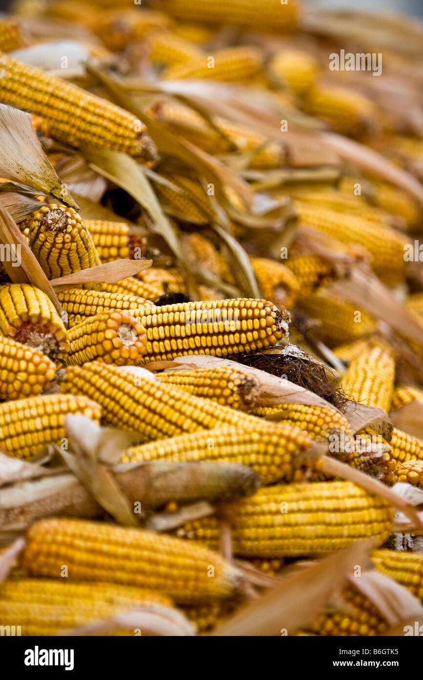
[{"label": "shadowed orange cob between two blurred husk leaves, bottom right corner", "polygon": [[354,586],[342,590],[342,609],[320,614],[306,632],[323,636],[374,636],[388,630],[386,620],[373,603]]}]

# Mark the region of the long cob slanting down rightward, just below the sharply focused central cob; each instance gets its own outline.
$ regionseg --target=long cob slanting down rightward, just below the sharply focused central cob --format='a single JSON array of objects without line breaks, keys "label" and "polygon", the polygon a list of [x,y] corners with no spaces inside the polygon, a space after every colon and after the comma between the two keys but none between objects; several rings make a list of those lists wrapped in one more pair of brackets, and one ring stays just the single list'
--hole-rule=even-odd
[{"label": "long cob slanting down rightward, just below the sharply focused central cob", "polygon": [[102,407],[105,424],[136,432],[141,443],[259,422],[253,415],[96,361],[68,367],[61,390],[87,394]]}]

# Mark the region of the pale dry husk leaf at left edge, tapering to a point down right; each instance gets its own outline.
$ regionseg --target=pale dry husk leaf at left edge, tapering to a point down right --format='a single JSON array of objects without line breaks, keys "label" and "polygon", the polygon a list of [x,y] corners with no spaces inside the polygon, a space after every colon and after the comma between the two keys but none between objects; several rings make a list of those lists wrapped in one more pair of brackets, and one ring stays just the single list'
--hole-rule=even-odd
[{"label": "pale dry husk leaf at left edge, tapering to a point down right", "polygon": [[0,175],[78,208],[41,149],[29,114],[5,104],[0,104]]}]

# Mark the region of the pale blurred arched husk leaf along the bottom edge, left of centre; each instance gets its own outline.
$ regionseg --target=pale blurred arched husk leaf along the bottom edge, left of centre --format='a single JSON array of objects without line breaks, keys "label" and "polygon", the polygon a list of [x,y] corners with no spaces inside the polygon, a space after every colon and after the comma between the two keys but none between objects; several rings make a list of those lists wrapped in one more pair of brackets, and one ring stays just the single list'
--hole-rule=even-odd
[{"label": "pale blurred arched husk leaf along the bottom edge, left of centre", "polygon": [[84,626],[69,628],[57,636],[111,635],[117,630],[141,630],[142,634],[160,636],[195,636],[196,627],[185,615],[173,607],[149,605],[115,614],[108,619],[98,619]]}]

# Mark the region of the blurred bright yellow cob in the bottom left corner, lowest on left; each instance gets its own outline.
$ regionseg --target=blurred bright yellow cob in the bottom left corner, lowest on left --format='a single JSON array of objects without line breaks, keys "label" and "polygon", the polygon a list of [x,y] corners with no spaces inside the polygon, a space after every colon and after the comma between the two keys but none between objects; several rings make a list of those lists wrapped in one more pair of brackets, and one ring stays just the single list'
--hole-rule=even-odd
[{"label": "blurred bright yellow cob in the bottom left corner, lowest on left", "polygon": [[14,626],[18,621],[21,635],[50,636],[136,607],[172,606],[166,595],[147,588],[64,580],[10,578],[3,581],[1,625]]}]

